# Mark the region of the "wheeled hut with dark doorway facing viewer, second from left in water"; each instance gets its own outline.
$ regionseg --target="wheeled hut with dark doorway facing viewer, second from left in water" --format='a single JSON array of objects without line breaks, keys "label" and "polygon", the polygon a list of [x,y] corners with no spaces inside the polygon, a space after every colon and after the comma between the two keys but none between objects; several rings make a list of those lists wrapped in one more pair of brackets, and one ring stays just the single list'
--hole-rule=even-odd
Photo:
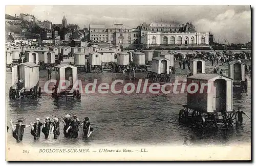
[{"label": "wheeled hut with dark doorway facing viewer, second from left in water", "polygon": [[[81,94],[79,93],[79,87],[78,87],[78,79],[77,79],[77,67],[70,65],[70,64],[60,64],[58,66],[55,66],[56,71],[56,86],[53,88],[52,97],[55,99],[59,99],[60,96],[65,96],[66,100],[68,98],[74,98],[81,99]],[[65,81],[69,80],[70,84],[65,84]],[[77,86],[76,85],[77,82]],[[59,85],[61,84],[61,85]],[[63,88],[62,86],[65,86],[66,88]],[[75,87],[74,87],[75,86]],[[73,88],[73,92],[71,89]]]}]

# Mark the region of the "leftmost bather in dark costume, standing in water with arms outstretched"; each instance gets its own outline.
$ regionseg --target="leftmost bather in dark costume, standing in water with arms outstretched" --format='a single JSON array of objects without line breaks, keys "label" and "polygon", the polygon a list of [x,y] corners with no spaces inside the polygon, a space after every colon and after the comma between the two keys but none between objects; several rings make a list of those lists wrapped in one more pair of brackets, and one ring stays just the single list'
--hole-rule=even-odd
[{"label": "leftmost bather in dark costume, standing in water with arms outstretched", "polygon": [[12,136],[14,137],[14,139],[16,139],[17,143],[22,142],[23,140],[23,134],[24,134],[24,129],[26,127],[30,127],[30,125],[24,125],[22,124],[22,120],[18,120],[18,124],[14,125],[12,124],[12,120],[10,120],[11,123],[11,127],[12,127]]}]

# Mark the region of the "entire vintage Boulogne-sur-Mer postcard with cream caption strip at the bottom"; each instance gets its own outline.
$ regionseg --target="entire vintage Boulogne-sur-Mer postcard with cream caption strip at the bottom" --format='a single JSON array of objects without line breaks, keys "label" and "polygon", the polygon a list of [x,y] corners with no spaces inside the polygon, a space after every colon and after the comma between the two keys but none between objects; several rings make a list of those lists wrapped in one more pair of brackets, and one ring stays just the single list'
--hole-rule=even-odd
[{"label": "entire vintage Boulogne-sur-Mer postcard with cream caption strip at the bottom", "polygon": [[6,6],[6,160],[251,160],[250,6]]}]

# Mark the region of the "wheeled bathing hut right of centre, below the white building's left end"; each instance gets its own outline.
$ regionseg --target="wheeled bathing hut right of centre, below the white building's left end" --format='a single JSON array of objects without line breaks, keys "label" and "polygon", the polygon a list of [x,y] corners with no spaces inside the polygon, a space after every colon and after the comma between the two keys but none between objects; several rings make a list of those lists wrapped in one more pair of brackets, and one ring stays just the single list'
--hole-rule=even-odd
[{"label": "wheeled bathing hut right of centre, below the white building's left end", "polygon": [[151,82],[169,82],[170,60],[163,57],[152,58],[152,70],[147,73],[147,79]]}]

